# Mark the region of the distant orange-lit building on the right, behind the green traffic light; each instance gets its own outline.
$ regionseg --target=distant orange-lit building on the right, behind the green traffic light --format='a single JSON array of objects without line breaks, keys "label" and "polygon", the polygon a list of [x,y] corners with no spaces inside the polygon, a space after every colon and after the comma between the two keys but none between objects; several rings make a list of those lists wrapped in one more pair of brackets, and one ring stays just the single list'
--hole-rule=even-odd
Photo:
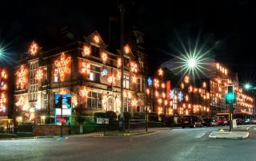
[{"label": "distant orange-lit building on the right, behind the green traffic light", "polygon": [[[186,86],[186,83],[184,82],[186,77],[183,75],[188,73],[181,73],[182,69],[178,68],[178,66],[180,66],[178,63],[178,58],[171,59],[170,61],[166,61],[162,64],[162,68],[170,70],[170,72],[173,74],[172,77],[175,78],[175,82],[172,82],[172,84],[176,84],[176,86],[172,88],[184,88],[184,90],[188,91],[190,95],[193,93],[190,96],[193,99],[190,99],[189,101],[191,108],[181,105],[180,108],[184,106],[184,108],[182,108],[182,111],[184,111],[181,113],[182,115],[198,115],[198,113],[202,115],[203,112],[206,112],[203,116],[229,116],[230,109],[225,102],[225,96],[227,86],[229,84],[233,84],[234,92],[237,96],[236,103],[234,104],[234,116],[253,116],[254,98],[252,96],[246,95],[242,88],[239,87],[238,76],[236,73],[232,73],[232,71],[227,69],[224,65],[220,65],[218,62],[214,61],[214,59],[209,58],[204,60],[203,73],[200,73],[198,76],[196,76],[194,80],[191,79],[192,76],[186,75],[186,77],[188,77],[190,80],[190,85]],[[199,84],[198,88],[192,87],[196,84]],[[203,87],[204,85],[200,84],[205,84],[205,87]],[[172,92],[172,90],[173,89],[171,89],[170,92]],[[185,92],[184,90],[182,91]],[[198,92],[201,94],[198,95]],[[198,99],[195,99],[196,95],[199,96]],[[183,94],[183,96],[185,96],[185,94]],[[205,99],[204,96],[206,96],[206,102],[200,101]],[[195,101],[199,101],[199,103],[194,104],[193,102]],[[194,110],[194,106],[197,110]],[[193,109],[192,113],[190,112],[190,109]],[[186,110],[188,112],[186,112]]]}]

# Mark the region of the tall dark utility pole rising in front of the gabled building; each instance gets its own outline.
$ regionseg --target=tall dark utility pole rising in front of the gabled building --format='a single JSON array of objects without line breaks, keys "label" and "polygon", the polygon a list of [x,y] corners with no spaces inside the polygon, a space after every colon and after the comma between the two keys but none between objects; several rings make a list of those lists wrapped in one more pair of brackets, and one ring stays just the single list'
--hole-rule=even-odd
[{"label": "tall dark utility pole rising in front of the gabled building", "polygon": [[119,120],[119,131],[125,131],[125,119],[123,115],[123,70],[124,70],[124,53],[123,53],[123,45],[124,45],[124,0],[119,0],[119,9],[121,16],[121,28],[120,28],[120,56],[121,56],[121,109],[120,109],[120,120]]}]

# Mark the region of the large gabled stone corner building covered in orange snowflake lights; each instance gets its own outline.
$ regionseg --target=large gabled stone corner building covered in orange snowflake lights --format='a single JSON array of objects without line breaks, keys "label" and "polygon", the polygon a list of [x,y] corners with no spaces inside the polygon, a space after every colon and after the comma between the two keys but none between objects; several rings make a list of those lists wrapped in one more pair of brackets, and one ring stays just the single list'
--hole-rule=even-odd
[{"label": "large gabled stone corner building covered in orange snowflake lights", "polygon": [[15,71],[17,121],[38,124],[44,116],[46,124],[54,123],[59,117],[54,101],[60,94],[72,97],[73,110],[63,111],[66,121],[71,120],[71,112],[91,115],[114,111],[119,114],[120,65],[125,67],[124,112],[144,112],[146,54],[136,45],[126,45],[122,64],[118,59],[119,53],[108,51],[97,31],[84,38],[84,41],[49,51],[42,51],[37,45],[24,53],[24,59],[18,61]]}]

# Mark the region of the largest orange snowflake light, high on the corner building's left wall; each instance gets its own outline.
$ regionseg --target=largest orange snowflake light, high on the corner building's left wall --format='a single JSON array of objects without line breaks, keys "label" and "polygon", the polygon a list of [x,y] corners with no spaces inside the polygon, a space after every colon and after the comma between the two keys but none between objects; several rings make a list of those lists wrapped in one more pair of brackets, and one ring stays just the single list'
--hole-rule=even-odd
[{"label": "largest orange snowflake light, high on the corner building's left wall", "polygon": [[58,69],[58,74],[61,78],[61,81],[64,81],[64,77],[66,73],[70,73],[69,64],[71,61],[71,57],[65,58],[65,54],[62,53],[62,56],[58,61],[54,62],[54,65]]}]

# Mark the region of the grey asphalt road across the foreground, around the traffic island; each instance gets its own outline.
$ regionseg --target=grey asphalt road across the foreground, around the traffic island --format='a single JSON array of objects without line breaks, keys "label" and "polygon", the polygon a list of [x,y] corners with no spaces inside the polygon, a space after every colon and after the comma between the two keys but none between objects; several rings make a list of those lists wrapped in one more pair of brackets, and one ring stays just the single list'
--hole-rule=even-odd
[{"label": "grey asphalt road across the foreground, around the traffic island", "polygon": [[256,160],[248,139],[210,139],[216,128],[185,128],[130,137],[69,137],[0,141],[0,160]]}]

